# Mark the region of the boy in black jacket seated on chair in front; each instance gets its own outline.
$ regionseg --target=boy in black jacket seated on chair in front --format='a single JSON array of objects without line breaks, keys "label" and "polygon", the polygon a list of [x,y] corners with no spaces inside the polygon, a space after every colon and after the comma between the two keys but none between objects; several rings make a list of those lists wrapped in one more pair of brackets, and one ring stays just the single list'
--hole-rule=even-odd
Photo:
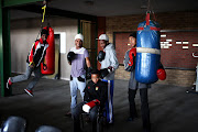
[{"label": "boy in black jacket seated on chair in front", "polygon": [[[74,119],[74,132],[81,132],[80,129],[80,114],[82,112],[89,112],[90,120],[92,122],[92,132],[97,132],[97,114],[98,110],[102,110],[105,107],[105,102],[108,98],[107,91],[108,84],[100,80],[99,70],[95,69],[91,72],[91,80],[87,84],[85,88],[85,97],[84,101],[77,105],[73,110],[73,119]],[[96,103],[92,105],[89,111],[85,108],[88,103]]]}]

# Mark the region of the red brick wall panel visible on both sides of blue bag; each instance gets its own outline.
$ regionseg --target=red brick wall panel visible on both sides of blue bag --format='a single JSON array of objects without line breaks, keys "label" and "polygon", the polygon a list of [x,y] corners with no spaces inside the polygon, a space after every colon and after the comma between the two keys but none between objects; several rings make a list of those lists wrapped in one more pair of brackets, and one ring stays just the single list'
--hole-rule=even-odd
[{"label": "red brick wall panel visible on both sides of blue bag", "polygon": [[[123,64],[125,51],[131,48],[128,45],[130,32],[114,32],[113,43],[117,50],[119,64]],[[195,69],[198,58],[193,53],[198,52],[198,31],[196,32],[162,32],[161,59],[168,68]],[[197,54],[198,55],[198,54]]]}]

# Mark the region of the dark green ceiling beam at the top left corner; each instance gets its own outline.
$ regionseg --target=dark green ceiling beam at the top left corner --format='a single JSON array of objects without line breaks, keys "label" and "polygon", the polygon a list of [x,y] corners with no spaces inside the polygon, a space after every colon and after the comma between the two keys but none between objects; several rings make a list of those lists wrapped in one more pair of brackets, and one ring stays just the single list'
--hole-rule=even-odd
[{"label": "dark green ceiling beam at the top left corner", "polygon": [[13,7],[13,6],[20,6],[25,3],[32,3],[36,1],[43,1],[43,0],[3,0],[3,7]]}]

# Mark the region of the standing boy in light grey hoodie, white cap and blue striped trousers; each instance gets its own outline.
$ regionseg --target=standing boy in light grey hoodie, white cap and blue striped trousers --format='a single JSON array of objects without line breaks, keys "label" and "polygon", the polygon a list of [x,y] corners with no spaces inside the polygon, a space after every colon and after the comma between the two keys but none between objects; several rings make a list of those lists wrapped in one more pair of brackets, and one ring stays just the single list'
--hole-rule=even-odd
[{"label": "standing boy in light grey hoodie, white cap and blue striped trousers", "polygon": [[99,44],[102,51],[99,52],[97,59],[101,64],[100,76],[103,81],[108,82],[108,101],[106,103],[107,120],[113,123],[113,85],[114,85],[114,70],[119,67],[117,53],[113,44],[109,43],[109,37],[106,34],[99,36]]}]

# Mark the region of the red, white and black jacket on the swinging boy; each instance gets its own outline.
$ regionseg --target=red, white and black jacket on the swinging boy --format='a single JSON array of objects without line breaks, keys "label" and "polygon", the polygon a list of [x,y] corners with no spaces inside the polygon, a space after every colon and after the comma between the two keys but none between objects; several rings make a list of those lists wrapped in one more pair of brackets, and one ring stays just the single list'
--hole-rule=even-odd
[{"label": "red, white and black jacket on the swinging boy", "polygon": [[38,67],[40,64],[44,61],[47,47],[47,42],[44,43],[42,38],[35,41],[28,55],[26,63],[29,63],[30,65],[34,65],[35,67]]}]

